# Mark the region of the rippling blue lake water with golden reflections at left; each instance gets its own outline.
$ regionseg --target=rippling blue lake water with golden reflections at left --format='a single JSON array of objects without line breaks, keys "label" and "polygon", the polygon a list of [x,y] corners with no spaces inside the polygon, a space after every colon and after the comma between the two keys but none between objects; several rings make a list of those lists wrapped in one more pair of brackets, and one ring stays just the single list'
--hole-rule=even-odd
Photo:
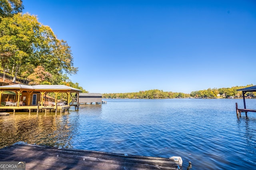
[{"label": "rippling blue lake water with golden reflections at left", "polygon": [[[236,116],[241,99],[106,99],[68,113],[0,117],[0,148],[17,141],[169,158],[194,170],[256,168],[256,113]],[[256,108],[256,100],[246,100]]]}]

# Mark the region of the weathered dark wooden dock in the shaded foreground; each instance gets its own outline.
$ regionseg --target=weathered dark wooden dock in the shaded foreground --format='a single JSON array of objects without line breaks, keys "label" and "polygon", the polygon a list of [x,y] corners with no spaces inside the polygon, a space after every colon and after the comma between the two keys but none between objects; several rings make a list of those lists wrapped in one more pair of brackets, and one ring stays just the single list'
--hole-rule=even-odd
[{"label": "weathered dark wooden dock in the shaded foreground", "polygon": [[26,170],[183,170],[182,160],[30,144],[0,149],[0,161],[26,162]]}]

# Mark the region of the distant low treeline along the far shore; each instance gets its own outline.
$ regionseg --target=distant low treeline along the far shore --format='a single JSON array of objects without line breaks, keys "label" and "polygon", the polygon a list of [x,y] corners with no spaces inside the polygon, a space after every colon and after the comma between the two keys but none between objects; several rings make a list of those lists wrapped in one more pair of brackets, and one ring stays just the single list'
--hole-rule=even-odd
[{"label": "distant low treeline along the far shore", "polygon": [[[199,90],[185,94],[181,92],[164,92],[163,90],[146,90],[133,93],[108,93],[103,94],[102,98],[129,98],[129,99],[166,99],[166,98],[229,98],[230,96],[242,97],[241,91],[236,91],[240,88],[254,86],[235,86],[231,88],[208,88],[207,90]],[[247,96],[256,96],[256,92],[247,92]]]}]

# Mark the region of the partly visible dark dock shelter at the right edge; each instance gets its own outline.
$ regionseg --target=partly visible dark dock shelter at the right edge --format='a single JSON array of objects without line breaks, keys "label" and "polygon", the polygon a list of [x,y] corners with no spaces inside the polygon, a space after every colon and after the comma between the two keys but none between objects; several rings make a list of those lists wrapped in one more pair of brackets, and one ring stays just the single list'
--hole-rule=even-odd
[{"label": "partly visible dark dock shelter at the right edge", "polygon": [[239,113],[240,116],[241,116],[241,112],[245,112],[245,115],[247,117],[247,112],[256,112],[256,109],[247,109],[246,108],[246,103],[245,103],[245,94],[246,94],[246,92],[256,92],[256,86],[240,88],[237,91],[242,91],[243,101],[244,101],[244,109],[239,109],[238,105],[236,103],[236,115],[238,116],[238,113]]}]

